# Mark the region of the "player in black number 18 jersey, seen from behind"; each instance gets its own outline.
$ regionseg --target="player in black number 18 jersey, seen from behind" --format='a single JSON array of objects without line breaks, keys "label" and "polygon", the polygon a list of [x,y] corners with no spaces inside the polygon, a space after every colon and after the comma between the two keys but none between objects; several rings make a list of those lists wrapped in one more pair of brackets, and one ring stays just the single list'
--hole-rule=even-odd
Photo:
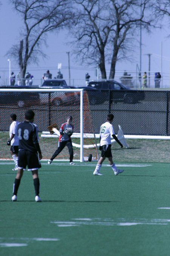
[{"label": "player in black number 18 jersey, seen from behind", "polygon": [[32,110],[26,111],[25,121],[19,123],[17,126],[17,135],[19,138],[18,172],[13,185],[12,201],[17,201],[17,192],[23,171],[26,170],[26,166],[28,166],[28,171],[32,172],[34,181],[36,193],[35,201],[41,202],[41,199],[39,198],[40,182],[38,169],[41,167],[39,160],[42,159],[42,154],[39,146],[37,126],[33,124],[34,115]]}]

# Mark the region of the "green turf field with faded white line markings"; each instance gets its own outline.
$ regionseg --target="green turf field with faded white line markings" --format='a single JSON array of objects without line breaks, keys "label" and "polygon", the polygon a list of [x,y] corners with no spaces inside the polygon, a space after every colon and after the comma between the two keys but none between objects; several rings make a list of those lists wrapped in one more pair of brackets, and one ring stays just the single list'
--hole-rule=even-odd
[{"label": "green turf field with faded white line markings", "polygon": [[167,256],[170,255],[168,163],[96,162],[70,166],[42,161],[40,197],[25,171],[17,202],[11,202],[14,164],[0,162],[0,255]]}]

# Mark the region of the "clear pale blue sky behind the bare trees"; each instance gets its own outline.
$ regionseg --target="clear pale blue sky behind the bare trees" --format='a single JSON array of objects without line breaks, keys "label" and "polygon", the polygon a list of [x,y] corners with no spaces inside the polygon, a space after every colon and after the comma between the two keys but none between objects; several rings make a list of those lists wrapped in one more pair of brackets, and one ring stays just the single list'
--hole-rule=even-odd
[{"label": "clear pale blue sky behind the bare trees", "polygon": [[[12,6],[9,5],[7,0],[2,0],[2,6],[0,6],[0,84],[6,81],[9,77],[9,61],[8,56],[5,56],[7,51],[11,48],[12,44],[19,42],[19,29],[21,28],[22,20],[18,16]],[[150,71],[151,73],[161,72],[164,79],[170,78],[170,29],[167,22],[164,21],[162,30],[153,30],[151,35],[142,32],[142,73],[148,72],[150,55]],[[85,81],[85,73],[90,74],[90,79],[96,79],[96,72],[93,66],[81,66],[76,63],[74,56],[72,55],[71,46],[66,44],[68,42],[68,36],[66,31],[60,31],[59,33],[48,33],[47,44],[42,47],[42,50],[48,58],[45,60],[40,59],[39,66],[36,64],[30,64],[27,68],[30,74],[34,76],[34,84],[40,83],[43,73],[49,70],[52,73],[52,77],[55,77],[58,72],[58,64],[61,63],[61,73],[63,78],[68,81],[68,53],[70,56],[70,75],[71,83],[83,83]],[[162,58],[161,58],[162,56]],[[123,75],[126,70],[128,74],[136,76],[136,66],[140,66],[140,49],[134,52],[135,60],[133,63],[122,61],[116,64],[116,77]],[[162,59],[162,61],[161,61]],[[11,71],[15,75],[19,72],[19,67],[14,60],[11,59]],[[109,65],[106,65],[109,74]],[[37,82],[35,82],[37,81]],[[76,82],[75,82],[76,81]],[[83,82],[82,82],[83,81]],[[85,82],[84,82],[85,83]]]}]

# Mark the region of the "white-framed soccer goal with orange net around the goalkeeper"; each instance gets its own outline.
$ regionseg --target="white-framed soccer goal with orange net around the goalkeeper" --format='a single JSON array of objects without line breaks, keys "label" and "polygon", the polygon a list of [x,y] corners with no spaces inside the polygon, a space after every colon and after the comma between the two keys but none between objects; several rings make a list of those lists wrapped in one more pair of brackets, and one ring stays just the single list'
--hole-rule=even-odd
[{"label": "white-framed soccer goal with orange net around the goalkeeper", "polygon": [[[9,139],[10,115],[15,113],[17,121],[24,121],[26,110],[35,113],[34,123],[39,129],[39,143],[43,159],[50,159],[56,151],[60,126],[66,118],[73,116],[74,133],[71,136],[74,159],[86,161],[92,154],[98,159],[96,144],[99,138],[94,135],[93,119],[87,92],[82,89],[0,89],[0,111],[3,120],[0,123],[0,140],[2,142],[1,159],[10,159]],[[8,105],[7,105],[8,104]],[[56,123],[58,129],[52,135],[48,126]],[[69,152],[65,147],[56,160],[68,160]]]}]

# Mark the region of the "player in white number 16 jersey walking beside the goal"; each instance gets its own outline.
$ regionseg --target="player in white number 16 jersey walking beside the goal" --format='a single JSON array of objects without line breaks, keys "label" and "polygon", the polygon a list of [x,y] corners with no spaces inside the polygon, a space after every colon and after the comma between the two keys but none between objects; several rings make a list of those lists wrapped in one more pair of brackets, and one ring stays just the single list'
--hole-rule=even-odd
[{"label": "player in white number 16 jersey walking beside the goal", "polygon": [[114,115],[108,114],[107,115],[107,122],[102,124],[100,127],[100,151],[101,151],[101,157],[99,161],[97,162],[96,169],[94,170],[94,175],[100,175],[103,174],[100,173],[100,168],[102,166],[103,161],[105,158],[108,158],[108,162],[114,171],[115,175],[118,175],[119,173],[122,173],[124,170],[117,169],[116,165],[113,163],[112,154],[111,154],[111,136],[116,140],[117,143],[123,148],[122,143],[118,140],[114,133],[114,128],[112,126]]}]

